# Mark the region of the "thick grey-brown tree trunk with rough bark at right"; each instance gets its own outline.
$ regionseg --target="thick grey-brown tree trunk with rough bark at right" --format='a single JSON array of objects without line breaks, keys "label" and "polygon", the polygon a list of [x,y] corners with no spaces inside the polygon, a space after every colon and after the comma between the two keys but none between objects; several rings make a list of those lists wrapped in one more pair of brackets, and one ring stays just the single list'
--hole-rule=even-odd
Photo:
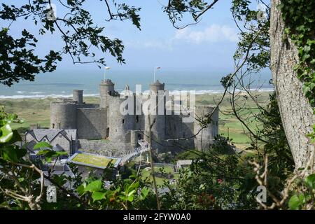
[{"label": "thick grey-brown tree trunk with rough bark at right", "polygon": [[304,167],[314,145],[307,134],[314,124],[313,109],[304,97],[302,83],[293,67],[298,62],[297,48],[288,38],[283,41],[284,22],[273,0],[270,18],[271,70],[283,128],[295,162],[295,170]]}]

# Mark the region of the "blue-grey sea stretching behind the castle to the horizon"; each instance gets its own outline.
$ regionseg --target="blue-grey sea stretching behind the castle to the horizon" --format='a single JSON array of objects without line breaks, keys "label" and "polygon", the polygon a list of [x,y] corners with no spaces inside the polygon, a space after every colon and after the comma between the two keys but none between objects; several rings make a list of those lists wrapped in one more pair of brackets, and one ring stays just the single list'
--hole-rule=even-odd
[{"label": "blue-grey sea stretching behind the castle to the horizon", "polygon": [[[108,70],[106,77],[115,83],[118,92],[125,90],[129,85],[134,91],[136,85],[141,85],[141,90],[148,90],[149,84],[153,83],[154,75],[150,70]],[[195,90],[196,94],[213,94],[223,92],[221,78],[228,71],[197,71],[185,70],[158,70],[155,78],[165,83],[165,89],[170,94],[176,91]],[[269,85],[271,74],[268,71],[255,73],[249,79],[252,90],[271,91]],[[45,97],[71,97],[72,90],[83,90],[85,97],[99,96],[99,83],[104,79],[101,70],[59,70],[52,73],[40,73],[36,75],[35,81],[22,80],[14,83],[11,87],[0,85],[0,99],[22,99],[22,98],[45,98]]]}]

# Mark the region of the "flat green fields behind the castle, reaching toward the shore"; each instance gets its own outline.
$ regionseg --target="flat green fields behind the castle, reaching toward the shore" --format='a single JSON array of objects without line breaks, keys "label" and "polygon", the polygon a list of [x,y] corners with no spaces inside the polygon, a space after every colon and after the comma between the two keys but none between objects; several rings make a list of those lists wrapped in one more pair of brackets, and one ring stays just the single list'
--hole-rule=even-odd
[{"label": "flat green fields behind the castle, reaching toward the shore", "polygon": [[[258,101],[265,104],[268,99],[268,92],[260,93]],[[221,94],[199,94],[196,96],[196,104],[216,104],[221,98]],[[13,128],[29,127],[31,124],[38,124],[41,127],[50,127],[50,103],[55,101],[53,98],[45,99],[0,99],[0,104],[5,106],[8,113],[16,113],[19,118],[25,122],[22,124],[14,124]],[[99,97],[85,97],[87,103],[99,103]],[[253,102],[248,101],[248,107],[255,108]],[[225,137],[233,139],[235,145],[239,148],[246,148],[250,139],[248,132],[244,126],[232,115],[226,115],[230,112],[230,104],[228,97],[223,99],[220,106],[221,112],[219,115],[219,132]],[[222,113],[223,112],[223,113]],[[246,115],[246,111],[244,112]],[[248,120],[247,120],[248,121]],[[250,127],[255,129],[255,121],[250,124]]]}]

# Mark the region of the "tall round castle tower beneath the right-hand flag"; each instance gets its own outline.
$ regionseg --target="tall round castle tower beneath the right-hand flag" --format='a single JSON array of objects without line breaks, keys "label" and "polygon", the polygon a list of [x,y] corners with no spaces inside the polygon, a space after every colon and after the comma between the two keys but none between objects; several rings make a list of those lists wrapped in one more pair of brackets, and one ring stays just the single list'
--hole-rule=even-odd
[{"label": "tall round castle tower beneath the right-hand flag", "polygon": [[[159,96],[160,91],[160,96]],[[161,92],[162,91],[162,92]],[[145,116],[145,133],[146,141],[148,141],[148,135],[150,126],[152,126],[152,147],[154,149],[162,148],[161,141],[165,139],[165,83],[160,83],[157,80],[155,83],[150,85],[150,109],[149,115]],[[162,94],[161,94],[162,93]],[[162,107],[161,107],[162,106]],[[150,116],[150,123],[149,118]]]}]

